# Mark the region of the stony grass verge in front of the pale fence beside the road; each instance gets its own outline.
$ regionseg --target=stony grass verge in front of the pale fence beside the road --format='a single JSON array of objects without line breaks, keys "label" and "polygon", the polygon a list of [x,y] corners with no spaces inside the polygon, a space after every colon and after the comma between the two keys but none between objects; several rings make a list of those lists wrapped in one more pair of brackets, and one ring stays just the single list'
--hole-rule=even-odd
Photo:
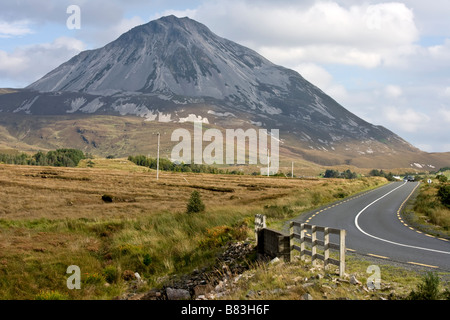
[{"label": "stony grass verge in front of the pale fence beside the road", "polygon": [[[374,267],[379,268],[375,285]],[[348,255],[346,274],[309,260],[255,262],[232,279],[225,300],[450,300],[448,273],[413,270]]]}]

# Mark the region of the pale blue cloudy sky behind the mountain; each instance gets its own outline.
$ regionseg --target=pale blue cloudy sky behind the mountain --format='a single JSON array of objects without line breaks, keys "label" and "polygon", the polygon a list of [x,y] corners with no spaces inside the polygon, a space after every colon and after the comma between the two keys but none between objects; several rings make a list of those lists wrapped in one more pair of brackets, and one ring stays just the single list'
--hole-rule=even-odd
[{"label": "pale blue cloudy sky behind the mountain", "polygon": [[421,150],[450,151],[449,0],[0,0],[0,88],[170,14],[299,72]]}]

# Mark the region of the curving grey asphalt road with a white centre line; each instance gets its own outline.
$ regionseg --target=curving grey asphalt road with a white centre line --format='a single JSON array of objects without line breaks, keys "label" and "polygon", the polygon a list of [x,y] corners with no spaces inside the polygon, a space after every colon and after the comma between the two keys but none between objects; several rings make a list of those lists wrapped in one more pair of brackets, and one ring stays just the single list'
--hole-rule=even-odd
[{"label": "curving grey asphalt road with a white centre line", "polygon": [[[415,230],[399,214],[418,186],[418,182],[390,183],[293,220],[345,229],[349,251],[450,271],[450,241]],[[331,241],[338,242],[333,237]]]}]

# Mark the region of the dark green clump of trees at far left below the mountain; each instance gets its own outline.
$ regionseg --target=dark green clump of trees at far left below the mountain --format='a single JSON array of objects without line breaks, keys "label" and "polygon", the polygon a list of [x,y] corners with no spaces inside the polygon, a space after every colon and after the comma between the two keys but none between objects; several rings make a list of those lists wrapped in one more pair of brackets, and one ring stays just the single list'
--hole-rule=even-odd
[{"label": "dark green clump of trees at far left below the mountain", "polygon": [[0,163],[29,166],[76,167],[87,154],[78,149],[57,149],[49,152],[0,154]]}]

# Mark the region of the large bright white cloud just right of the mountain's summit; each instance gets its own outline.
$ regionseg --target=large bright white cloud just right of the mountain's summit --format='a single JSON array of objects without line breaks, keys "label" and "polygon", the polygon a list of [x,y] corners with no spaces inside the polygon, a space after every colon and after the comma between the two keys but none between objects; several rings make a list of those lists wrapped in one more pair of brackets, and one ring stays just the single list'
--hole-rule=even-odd
[{"label": "large bright white cloud just right of the mountain's summit", "polygon": [[374,68],[410,53],[418,39],[413,12],[402,3],[255,5],[232,0],[205,2],[189,13],[219,35],[287,66],[313,62]]}]

